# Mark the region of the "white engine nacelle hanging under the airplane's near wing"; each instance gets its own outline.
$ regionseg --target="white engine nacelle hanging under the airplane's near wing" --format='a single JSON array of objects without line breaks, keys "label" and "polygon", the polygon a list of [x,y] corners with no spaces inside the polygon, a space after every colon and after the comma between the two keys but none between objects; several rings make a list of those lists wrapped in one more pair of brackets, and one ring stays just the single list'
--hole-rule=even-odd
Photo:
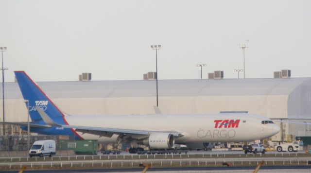
[{"label": "white engine nacelle hanging under the airplane's near wing", "polygon": [[174,136],[170,133],[152,133],[149,138],[143,140],[144,145],[156,149],[170,149],[174,143]]}]

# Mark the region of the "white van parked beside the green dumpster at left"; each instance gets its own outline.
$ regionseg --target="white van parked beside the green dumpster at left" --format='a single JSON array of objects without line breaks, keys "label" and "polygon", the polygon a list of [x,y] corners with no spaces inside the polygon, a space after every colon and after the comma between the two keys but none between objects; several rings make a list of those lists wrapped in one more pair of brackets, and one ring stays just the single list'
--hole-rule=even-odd
[{"label": "white van parked beside the green dumpster at left", "polygon": [[55,140],[37,140],[29,150],[29,156],[50,156],[56,154]]}]

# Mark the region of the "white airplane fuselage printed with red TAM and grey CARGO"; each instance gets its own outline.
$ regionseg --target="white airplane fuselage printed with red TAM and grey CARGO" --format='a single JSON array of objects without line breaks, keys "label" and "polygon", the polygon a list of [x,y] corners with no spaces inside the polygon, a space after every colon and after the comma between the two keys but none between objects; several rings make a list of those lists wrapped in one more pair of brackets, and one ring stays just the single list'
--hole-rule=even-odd
[{"label": "white airplane fuselage printed with red TAM and grey CARGO", "polygon": [[[280,130],[274,123],[261,123],[271,121],[268,118],[245,113],[66,116],[65,119],[69,125],[77,126],[183,133],[184,136],[175,138],[175,143],[253,141],[270,138]],[[118,138],[118,135],[107,138],[78,134],[84,139],[97,139],[101,143],[114,143]]]}]

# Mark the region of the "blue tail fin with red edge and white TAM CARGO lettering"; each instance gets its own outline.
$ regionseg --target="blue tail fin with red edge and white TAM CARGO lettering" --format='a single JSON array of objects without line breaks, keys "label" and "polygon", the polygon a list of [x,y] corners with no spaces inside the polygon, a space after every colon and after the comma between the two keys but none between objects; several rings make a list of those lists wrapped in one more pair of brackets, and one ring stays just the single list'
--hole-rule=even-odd
[{"label": "blue tail fin with red edge and white TAM CARGO lettering", "polygon": [[56,123],[67,124],[64,119],[64,114],[53,104],[51,99],[37,86],[25,71],[14,71],[14,73],[24,99],[29,101],[29,114],[32,121],[42,120],[41,116],[36,111],[36,106],[38,106]]}]

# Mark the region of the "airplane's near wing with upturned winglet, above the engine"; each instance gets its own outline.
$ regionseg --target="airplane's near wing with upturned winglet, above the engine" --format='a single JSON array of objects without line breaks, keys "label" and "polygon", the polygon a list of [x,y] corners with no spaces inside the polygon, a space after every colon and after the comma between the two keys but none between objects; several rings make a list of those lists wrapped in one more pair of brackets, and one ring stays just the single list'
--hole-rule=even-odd
[{"label": "airplane's near wing with upturned winglet, above the engine", "polygon": [[[159,131],[144,131],[144,130],[132,130],[132,129],[119,129],[119,128],[104,128],[104,127],[90,127],[90,126],[79,126],[79,125],[65,125],[55,123],[40,107],[36,106],[36,110],[42,117],[42,120],[51,126],[63,127],[75,129],[77,132],[88,133],[93,135],[99,135],[104,137],[112,137],[113,134],[121,135],[121,138],[135,138],[141,139],[148,137],[151,133],[159,133]],[[168,131],[160,131],[168,132]],[[175,137],[183,136],[182,133],[176,131],[169,131]]]}]

